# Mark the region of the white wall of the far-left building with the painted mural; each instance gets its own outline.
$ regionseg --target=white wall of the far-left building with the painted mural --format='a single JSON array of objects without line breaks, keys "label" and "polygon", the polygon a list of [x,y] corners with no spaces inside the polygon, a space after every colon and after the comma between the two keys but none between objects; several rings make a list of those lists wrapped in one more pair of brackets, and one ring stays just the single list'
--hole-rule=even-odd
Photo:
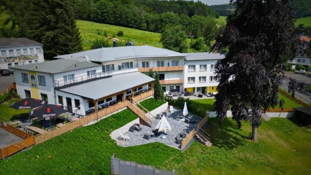
[{"label": "white wall of the far-left building with the painted mural", "polygon": [[[36,52],[36,48],[40,48],[40,53],[37,53]],[[23,49],[27,49],[27,55],[32,55],[30,54],[30,49],[34,49],[34,54],[37,54],[38,55],[38,62],[44,62],[44,56],[43,56],[43,49],[42,49],[42,45],[36,45],[36,46],[19,46],[19,47],[3,47],[3,48],[0,48],[0,57],[2,57],[2,53],[1,51],[6,51],[6,57],[11,57],[10,56],[10,53],[9,51],[10,50],[13,50],[13,53],[14,53],[14,57],[15,56],[20,56],[20,55],[17,55],[17,52],[16,50],[20,49],[20,55],[24,55],[23,54]],[[26,54],[25,54],[26,55]],[[32,61],[32,63],[35,63],[35,59],[31,59],[31,60],[22,60],[22,61],[18,61],[16,60],[15,62],[4,62],[3,59],[0,59],[0,69],[8,69],[8,63],[12,63],[12,67],[15,66],[14,63],[18,63],[18,65],[27,65],[27,64],[30,64],[29,61]],[[31,63],[31,64],[32,64]]]}]

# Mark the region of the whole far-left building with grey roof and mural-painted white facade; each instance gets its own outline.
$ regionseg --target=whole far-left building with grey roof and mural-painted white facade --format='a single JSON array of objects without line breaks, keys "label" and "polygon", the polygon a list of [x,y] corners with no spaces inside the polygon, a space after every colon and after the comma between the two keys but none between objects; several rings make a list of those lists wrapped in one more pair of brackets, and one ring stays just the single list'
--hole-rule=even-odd
[{"label": "whole far-left building with grey roof and mural-painted white facade", "polygon": [[28,38],[0,38],[0,69],[44,62],[42,44]]}]

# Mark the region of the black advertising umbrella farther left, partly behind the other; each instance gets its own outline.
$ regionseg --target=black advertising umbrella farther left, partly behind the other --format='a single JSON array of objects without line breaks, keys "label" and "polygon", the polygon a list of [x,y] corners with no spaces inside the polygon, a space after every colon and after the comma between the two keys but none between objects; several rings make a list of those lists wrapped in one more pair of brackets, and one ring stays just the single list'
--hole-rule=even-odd
[{"label": "black advertising umbrella farther left, partly behind the other", "polygon": [[25,99],[16,101],[10,107],[14,109],[33,109],[35,107],[39,107],[42,105],[43,105],[42,100],[37,100],[33,98],[25,98]]}]

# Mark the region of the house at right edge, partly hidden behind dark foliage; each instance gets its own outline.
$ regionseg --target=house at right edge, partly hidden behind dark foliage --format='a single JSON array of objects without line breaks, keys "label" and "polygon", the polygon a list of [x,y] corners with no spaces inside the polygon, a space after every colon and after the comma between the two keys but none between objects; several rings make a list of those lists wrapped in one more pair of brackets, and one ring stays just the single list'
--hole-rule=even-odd
[{"label": "house at right edge, partly hidden behind dark foliage", "polygon": [[[311,37],[301,36],[300,41],[303,48],[308,48],[309,43],[311,41]],[[291,64],[301,64],[305,67],[309,67],[311,64],[311,58],[306,53],[298,51],[296,53],[296,56],[293,59],[290,59],[288,62]]]}]

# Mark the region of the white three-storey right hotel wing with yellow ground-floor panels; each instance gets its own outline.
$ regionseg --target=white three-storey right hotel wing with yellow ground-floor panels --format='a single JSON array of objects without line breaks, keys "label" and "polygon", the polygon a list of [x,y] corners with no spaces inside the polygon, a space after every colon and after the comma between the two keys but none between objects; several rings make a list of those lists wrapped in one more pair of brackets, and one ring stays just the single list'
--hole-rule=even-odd
[{"label": "white three-storey right hotel wing with yellow ground-floor panels", "polygon": [[184,68],[185,92],[217,92],[218,81],[214,73],[215,64],[223,59],[219,53],[186,53]]}]

